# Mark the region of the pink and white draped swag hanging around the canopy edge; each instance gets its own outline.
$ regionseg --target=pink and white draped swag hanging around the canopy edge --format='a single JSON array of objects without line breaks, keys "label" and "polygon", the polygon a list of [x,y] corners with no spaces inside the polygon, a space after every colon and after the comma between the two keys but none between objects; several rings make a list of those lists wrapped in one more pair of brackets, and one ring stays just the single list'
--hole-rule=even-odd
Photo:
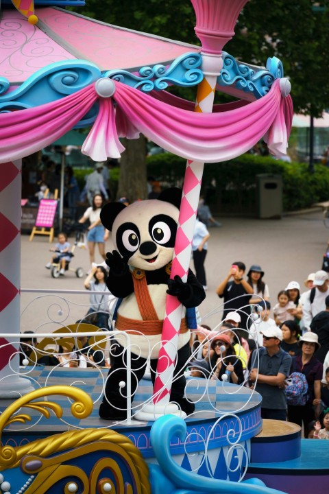
[{"label": "pink and white draped swag hanging around the canopy edge", "polygon": [[[139,132],[161,148],[204,163],[239,156],[263,136],[272,154],[287,152],[292,104],[290,96],[282,98],[279,80],[255,102],[236,102],[229,106],[233,109],[210,114],[172,106],[120,82],[115,85],[111,98],[100,98],[95,85],[90,84],[56,102],[0,115],[0,163],[22,158],[56,141],[97,100],[99,114],[82,148],[95,161],[117,158],[124,150],[118,135],[135,138]],[[184,104],[185,108],[190,106]]]}]

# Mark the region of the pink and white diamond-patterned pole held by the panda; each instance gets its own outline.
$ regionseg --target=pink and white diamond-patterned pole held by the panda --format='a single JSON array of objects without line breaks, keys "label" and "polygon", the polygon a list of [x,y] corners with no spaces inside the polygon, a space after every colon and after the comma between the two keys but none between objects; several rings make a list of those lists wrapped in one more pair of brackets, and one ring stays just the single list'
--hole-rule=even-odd
[{"label": "pink and white diamond-patterned pole held by the panda", "polygon": [[[234,36],[234,26],[243,6],[249,0],[191,0],[197,17],[195,32],[202,42],[204,80],[197,89],[195,111],[211,113],[217,77],[223,67],[223,46]],[[199,202],[204,163],[187,161],[182,204],[178,220],[171,278],[178,274],[187,279],[191,259],[195,217]],[[162,342],[154,384],[154,416],[171,413],[170,392],[182,319],[182,305],[176,297],[167,296],[162,327]]]}]

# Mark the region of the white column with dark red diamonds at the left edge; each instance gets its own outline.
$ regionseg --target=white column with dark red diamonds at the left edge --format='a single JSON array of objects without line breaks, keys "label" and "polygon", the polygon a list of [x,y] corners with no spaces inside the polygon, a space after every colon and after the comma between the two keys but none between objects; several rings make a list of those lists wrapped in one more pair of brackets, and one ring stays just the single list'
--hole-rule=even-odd
[{"label": "white column with dark red diamonds at the left edge", "polygon": [[[21,302],[21,160],[0,165],[0,331],[19,340]],[[0,398],[33,391],[19,377],[19,355],[0,333]],[[4,345],[4,346],[3,346]],[[14,355],[14,357],[12,357]]]}]

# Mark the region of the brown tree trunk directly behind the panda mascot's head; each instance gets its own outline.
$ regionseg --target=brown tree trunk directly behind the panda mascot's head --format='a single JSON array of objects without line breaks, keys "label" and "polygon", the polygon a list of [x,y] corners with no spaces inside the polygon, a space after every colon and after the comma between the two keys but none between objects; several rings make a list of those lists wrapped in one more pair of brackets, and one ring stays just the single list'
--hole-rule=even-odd
[{"label": "brown tree trunk directly behind the panda mascot's head", "polygon": [[147,198],[146,142],[139,139],[122,139],[125,146],[120,161],[118,199],[125,196],[134,202]]}]

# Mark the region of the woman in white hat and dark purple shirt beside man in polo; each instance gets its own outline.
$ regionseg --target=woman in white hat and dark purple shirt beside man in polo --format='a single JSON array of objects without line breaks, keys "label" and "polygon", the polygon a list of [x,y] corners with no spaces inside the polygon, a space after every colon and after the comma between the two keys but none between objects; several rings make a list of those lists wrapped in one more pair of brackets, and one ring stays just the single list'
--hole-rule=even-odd
[{"label": "woman in white hat and dark purple shirt beside man in polo", "polygon": [[308,400],[304,406],[288,405],[288,420],[298,425],[303,423],[304,436],[307,437],[308,424],[317,418],[313,407],[317,407],[321,401],[323,365],[314,356],[320,347],[317,334],[308,331],[300,338],[298,344],[302,348],[302,355],[295,357],[295,371],[306,377]]}]

